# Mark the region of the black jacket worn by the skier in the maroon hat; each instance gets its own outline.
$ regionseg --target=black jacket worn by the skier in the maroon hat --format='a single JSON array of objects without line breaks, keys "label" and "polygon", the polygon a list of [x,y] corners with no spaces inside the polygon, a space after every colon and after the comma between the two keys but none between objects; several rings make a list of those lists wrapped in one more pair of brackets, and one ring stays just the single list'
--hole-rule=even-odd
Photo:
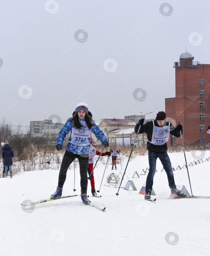
[{"label": "black jacket worn by the skier in the maroon hat", "polygon": [[[167,122],[166,124],[164,124],[164,126],[167,126],[170,124],[170,134],[172,134],[175,137],[180,137],[180,131],[177,130],[176,127],[174,127],[172,125],[172,123]],[[157,123],[156,120],[154,120],[154,125],[157,127],[160,127]],[[138,128],[139,128],[139,124],[137,124],[134,128],[135,133],[138,132]],[[156,153],[163,153],[165,151],[167,151],[168,147],[167,147],[167,143],[163,144],[163,145],[154,145],[152,143],[150,143],[150,141],[152,141],[152,133],[153,133],[153,122],[152,121],[148,121],[146,122],[146,124],[141,125],[140,131],[139,133],[146,133],[147,138],[148,138],[148,142],[146,145],[146,148],[152,152],[156,152]],[[183,131],[182,131],[183,133]]]}]

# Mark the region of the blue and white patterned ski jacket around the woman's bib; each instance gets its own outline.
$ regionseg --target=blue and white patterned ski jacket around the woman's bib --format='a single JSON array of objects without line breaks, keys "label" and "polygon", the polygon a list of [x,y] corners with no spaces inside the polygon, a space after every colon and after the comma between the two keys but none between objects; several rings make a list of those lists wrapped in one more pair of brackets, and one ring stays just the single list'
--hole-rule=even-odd
[{"label": "blue and white patterned ski jacket around the woman's bib", "polygon": [[[72,122],[70,121],[71,119],[72,119],[72,117],[69,118],[66,121],[66,123],[62,127],[61,131],[59,132],[56,145],[60,144],[61,146],[63,146],[64,139],[66,138],[66,135],[69,132],[70,132],[69,141],[71,141],[71,139],[72,139],[72,125],[73,125],[73,121]],[[83,118],[83,119],[79,118],[79,120],[85,121],[85,118]],[[103,143],[104,141],[108,141],[106,136],[99,129],[99,127],[92,120],[91,120],[91,122],[95,125],[91,128],[91,132],[94,133],[96,138],[99,139],[101,143]],[[88,138],[88,142],[90,142],[90,138]],[[66,146],[66,151],[69,151],[69,152],[71,152],[73,154],[77,154],[77,155],[89,154],[90,153],[90,146],[89,146],[89,144],[87,146],[77,146],[77,145],[74,145],[74,144],[68,142],[67,146]]]}]

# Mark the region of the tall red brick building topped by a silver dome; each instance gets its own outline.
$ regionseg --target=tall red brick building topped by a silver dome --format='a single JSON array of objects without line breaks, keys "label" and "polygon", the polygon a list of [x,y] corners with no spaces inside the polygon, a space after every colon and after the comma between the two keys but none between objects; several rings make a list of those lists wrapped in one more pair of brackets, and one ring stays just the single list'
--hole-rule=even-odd
[{"label": "tall red brick building topped by a silver dome", "polygon": [[[176,97],[165,99],[165,113],[183,125],[184,144],[204,145],[210,142],[210,64],[193,60],[191,53],[183,52],[174,63]],[[171,136],[168,144],[181,143]]]}]

